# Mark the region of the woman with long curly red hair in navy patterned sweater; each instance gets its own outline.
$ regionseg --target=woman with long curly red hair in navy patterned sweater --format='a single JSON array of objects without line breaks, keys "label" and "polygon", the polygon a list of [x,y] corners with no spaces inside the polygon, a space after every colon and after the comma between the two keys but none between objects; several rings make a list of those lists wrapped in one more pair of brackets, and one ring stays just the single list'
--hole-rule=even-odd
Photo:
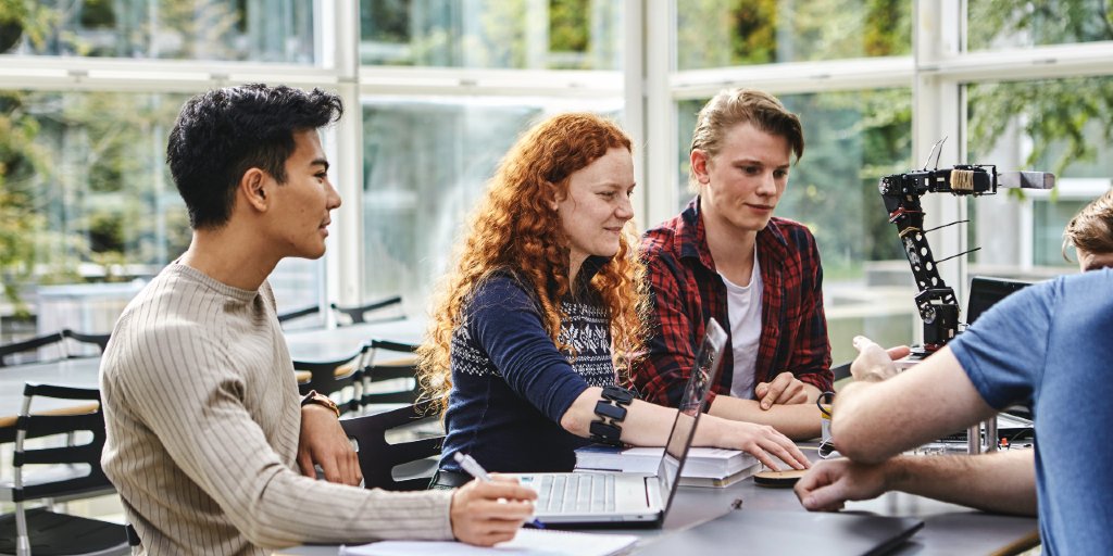
[{"label": "woman with long curly red hair in navy patterned sweater", "polygon": [[[629,384],[647,336],[633,189],[630,138],[590,113],[538,123],[503,158],[418,350],[424,394],[446,396],[434,486],[470,478],[456,453],[492,471],[571,470],[593,421],[597,440],[664,444],[676,410],[613,388]],[[601,406],[620,416],[600,417]],[[696,444],[743,449],[771,467],[808,466],[765,425],[708,416]]]}]

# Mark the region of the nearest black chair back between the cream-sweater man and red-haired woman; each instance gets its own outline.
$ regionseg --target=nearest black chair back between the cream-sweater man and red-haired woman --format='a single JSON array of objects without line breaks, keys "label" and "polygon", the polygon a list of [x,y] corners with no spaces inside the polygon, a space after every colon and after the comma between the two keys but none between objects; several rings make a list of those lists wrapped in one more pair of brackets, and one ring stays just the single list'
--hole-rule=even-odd
[{"label": "nearest black chair back between the cream-sweater man and red-haired woman", "polygon": [[[439,463],[435,456],[444,444],[444,429],[434,407],[435,400],[423,400],[386,413],[341,419],[344,433],[355,440],[365,488],[423,490],[429,486]],[[425,429],[430,424],[435,427],[433,433]],[[390,434],[392,429],[398,434]],[[404,439],[391,441],[397,436]]]}]

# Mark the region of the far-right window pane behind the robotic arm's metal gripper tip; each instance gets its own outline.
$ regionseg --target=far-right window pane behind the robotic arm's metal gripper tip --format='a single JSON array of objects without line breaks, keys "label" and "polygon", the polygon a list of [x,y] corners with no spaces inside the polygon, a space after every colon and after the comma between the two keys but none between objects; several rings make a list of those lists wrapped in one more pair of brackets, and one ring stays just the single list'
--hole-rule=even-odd
[{"label": "far-right window pane behind the robotic arm's metal gripper tip", "polygon": [[[1054,192],[1001,190],[968,201],[972,272],[1020,278],[1071,271],[1063,227],[1113,183],[1113,78],[966,86],[969,160],[1057,176]],[[1013,231],[1006,231],[1013,230]]]}]

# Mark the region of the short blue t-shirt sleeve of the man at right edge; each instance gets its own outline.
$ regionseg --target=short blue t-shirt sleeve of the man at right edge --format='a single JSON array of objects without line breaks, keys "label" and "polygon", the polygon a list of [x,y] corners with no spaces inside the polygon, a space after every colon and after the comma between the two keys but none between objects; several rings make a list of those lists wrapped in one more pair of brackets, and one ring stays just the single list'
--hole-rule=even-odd
[{"label": "short blue t-shirt sleeve of the man at right edge", "polygon": [[1062,279],[1030,286],[993,306],[949,344],[983,399],[997,409],[1032,398],[1043,375]]}]

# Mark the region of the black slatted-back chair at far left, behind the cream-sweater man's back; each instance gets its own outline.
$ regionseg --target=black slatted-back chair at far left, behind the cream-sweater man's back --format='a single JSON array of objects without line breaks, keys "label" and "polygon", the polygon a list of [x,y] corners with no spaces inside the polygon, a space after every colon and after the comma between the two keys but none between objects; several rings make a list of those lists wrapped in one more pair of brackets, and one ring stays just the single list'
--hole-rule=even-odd
[{"label": "black slatted-back chair at far left, behind the cream-sweater man's back", "polygon": [[[31,414],[36,396],[98,404],[91,411]],[[122,525],[58,514],[45,507],[24,508],[28,500],[87,498],[114,490],[100,467],[100,453],[105,446],[105,415],[99,399],[99,391],[92,388],[32,383],[23,387],[23,407],[16,424],[16,453],[12,458],[14,480],[9,487],[16,510],[0,516],[0,554],[107,555],[127,554],[130,550]],[[26,446],[30,438],[79,431],[90,433],[92,439],[87,444],[67,443],[67,446],[61,447]],[[29,465],[51,467],[38,473],[27,473],[24,466]]]}]

